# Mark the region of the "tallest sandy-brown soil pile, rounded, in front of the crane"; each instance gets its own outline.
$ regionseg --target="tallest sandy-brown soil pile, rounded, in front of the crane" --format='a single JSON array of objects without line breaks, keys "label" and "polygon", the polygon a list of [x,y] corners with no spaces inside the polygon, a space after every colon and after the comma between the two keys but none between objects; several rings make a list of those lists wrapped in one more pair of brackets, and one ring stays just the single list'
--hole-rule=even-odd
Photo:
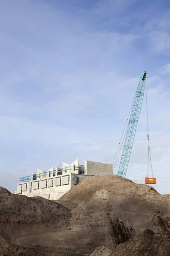
[{"label": "tallest sandy-brown soil pile, rounded, in front of the crane", "polygon": [[71,224],[95,230],[91,242],[97,246],[114,248],[147,228],[170,230],[170,196],[116,175],[88,177],[61,200],[78,204],[71,211],[76,223],[72,218]]}]

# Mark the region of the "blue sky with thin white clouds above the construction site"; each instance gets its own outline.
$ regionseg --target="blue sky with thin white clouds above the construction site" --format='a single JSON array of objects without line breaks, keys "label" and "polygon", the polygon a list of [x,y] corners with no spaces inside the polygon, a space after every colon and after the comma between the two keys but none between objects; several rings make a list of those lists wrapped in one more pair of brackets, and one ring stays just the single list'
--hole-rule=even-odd
[{"label": "blue sky with thin white clouds above the construction site", "polygon": [[[112,163],[146,70],[155,188],[170,193],[169,17],[167,0],[0,1],[0,186],[77,157]],[[146,175],[144,99],[127,178]]]}]

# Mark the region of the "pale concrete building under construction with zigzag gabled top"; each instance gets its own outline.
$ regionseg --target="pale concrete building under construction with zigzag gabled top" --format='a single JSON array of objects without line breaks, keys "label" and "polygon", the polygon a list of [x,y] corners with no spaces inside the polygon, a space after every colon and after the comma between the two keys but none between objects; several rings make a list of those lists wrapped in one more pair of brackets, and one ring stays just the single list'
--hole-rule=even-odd
[{"label": "pale concrete building under construction with zigzag gabled top", "polygon": [[113,173],[112,164],[77,158],[73,163],[52,166],[47,172],[36,169],[31,176],[21,177],[17,194],[28,197],[41,196],[57,200],[88,176],[104,176]]}]

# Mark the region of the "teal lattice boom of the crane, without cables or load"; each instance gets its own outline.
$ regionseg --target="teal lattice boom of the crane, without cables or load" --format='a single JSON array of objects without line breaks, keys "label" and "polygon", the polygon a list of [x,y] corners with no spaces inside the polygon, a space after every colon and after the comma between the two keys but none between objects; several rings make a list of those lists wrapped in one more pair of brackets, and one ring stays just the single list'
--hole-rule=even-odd
[{"label": "teal lattice boom of the crane, without cables or load", "polygon": [[123,146],[122,156],[120,160],[118,176],[126,177],[127,167],[130,160],[130,154],[132,151],[133,141],[136,133],[136,127],[139,120],[139,114],[142,107],[142,101],[144,97],[144,87],[145,87],[145,80],[146,80],[147,72],[144,71],[141,75],[135,97],[133,100],[132,111],[130,113],[130,119],[127,126],[125,143]]}]

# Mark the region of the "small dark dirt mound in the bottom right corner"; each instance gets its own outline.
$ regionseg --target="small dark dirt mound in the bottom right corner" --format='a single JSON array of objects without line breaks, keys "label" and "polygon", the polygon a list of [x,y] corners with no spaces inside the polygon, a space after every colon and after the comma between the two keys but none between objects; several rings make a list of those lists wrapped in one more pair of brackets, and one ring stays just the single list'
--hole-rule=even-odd
[{"label": "small dark dirt mound in the bottom right corner", "polygon": [[130,241],[120,244],[111,256],[170,256],[170,233],[144,230]]}]

